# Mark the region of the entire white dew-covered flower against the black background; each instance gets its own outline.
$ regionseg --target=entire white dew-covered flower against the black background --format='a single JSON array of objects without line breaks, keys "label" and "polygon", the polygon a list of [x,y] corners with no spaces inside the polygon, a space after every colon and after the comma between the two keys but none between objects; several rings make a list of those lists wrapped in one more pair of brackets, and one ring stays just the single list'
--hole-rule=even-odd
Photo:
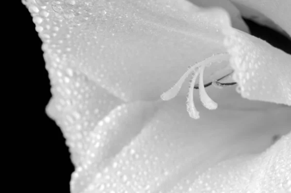
[{"label": "entire white dew-covered flower against the black background", "polygon": [[22,3],[71,193],[291,193],[290,0]]}]

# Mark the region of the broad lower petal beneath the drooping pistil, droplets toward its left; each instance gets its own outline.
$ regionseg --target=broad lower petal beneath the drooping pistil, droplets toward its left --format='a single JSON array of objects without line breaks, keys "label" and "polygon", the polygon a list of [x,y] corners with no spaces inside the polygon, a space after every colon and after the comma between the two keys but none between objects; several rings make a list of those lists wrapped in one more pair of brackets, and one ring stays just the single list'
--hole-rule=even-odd
[{"label": "broad lower petal beneath the drooping pistil, droplets toward its left", "polygon": [[[180,96],[153,104],[156,108],[147,113],[145,123],[138,118],[143,113],[132,116],[136,112],[128,105],[120,110],[128,113],[121,116],[113,111],[113,121],[96,128],[96,133],[106,136],[92,141],[86,165],[73,175],[72,192],[167,192],[180,179],[193,175],[188,179],[194,181],[197,171],[226,158],[260,153],[272,144],[275,134],[290,132],[289,108],[275,112],[202,109],[204,115],[194,120],[183,101]],[[130,124],[126,117],[132,117]]]}]

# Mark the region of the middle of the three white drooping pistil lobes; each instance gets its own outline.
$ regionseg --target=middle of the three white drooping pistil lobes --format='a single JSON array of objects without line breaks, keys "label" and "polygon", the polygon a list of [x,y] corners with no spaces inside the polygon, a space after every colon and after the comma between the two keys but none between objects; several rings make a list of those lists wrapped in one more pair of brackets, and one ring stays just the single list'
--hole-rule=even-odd
[{"label": "middle of the three white drooping pistil lobes", "polygon": [[196,79],[197,79],[199,73],[200,73],[200,69],[197,70],[197,72],[194,74],[194,76],[191,80],[189,92],[188,92],[188,97],[187,97],[187,102],[186,102],[187,112],[189,113],[190,117],[194,118],[194,119],[199,119],[199,112],[196,110],[195,105],[194,105],[194,100],[193,100],[194,84],[196,82]]}]

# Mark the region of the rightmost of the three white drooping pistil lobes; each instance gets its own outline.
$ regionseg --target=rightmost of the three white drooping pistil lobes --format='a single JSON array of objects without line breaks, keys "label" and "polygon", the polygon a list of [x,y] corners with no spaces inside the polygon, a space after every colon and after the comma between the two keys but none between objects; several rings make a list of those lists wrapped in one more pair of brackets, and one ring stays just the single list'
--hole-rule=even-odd
[{"label": "rightmost of the three white drooping pistil lobes", "polygon": [[217,103],[214,102],[206,93],[206,90],[204,88],[203,84],[203,72],[204,72],[205,66],[201,66],[200,69],[200,77],[199,77],[199,94],[200,94],[200,100],[202,104],[209,110],[214,110],[217,108]]}]

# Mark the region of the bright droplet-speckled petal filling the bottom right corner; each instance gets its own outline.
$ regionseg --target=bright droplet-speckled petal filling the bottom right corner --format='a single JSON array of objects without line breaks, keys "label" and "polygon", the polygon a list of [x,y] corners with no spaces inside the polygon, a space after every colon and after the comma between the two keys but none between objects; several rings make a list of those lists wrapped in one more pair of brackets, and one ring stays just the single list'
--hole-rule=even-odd
[{"label": "bright droplet-speckled petal filling the bottom right corner", "polygon": [[291,133],[260,155],[223,161],[199,176],[187,193],[290,193]]}]

